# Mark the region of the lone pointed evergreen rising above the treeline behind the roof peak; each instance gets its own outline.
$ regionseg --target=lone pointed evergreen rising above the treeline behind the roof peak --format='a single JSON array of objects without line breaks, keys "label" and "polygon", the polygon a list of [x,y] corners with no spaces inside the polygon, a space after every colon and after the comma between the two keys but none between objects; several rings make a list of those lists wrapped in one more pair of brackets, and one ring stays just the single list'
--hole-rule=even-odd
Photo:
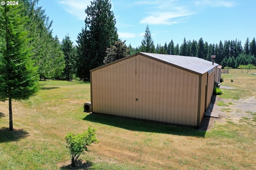
[{"label": "lone pointed evergreen rising above the treeline behind the roof peak", "polygon": [[151,37],[151,32],[148,25],[146,26],[144,39],[141,41],[140,51],[146,53],[156,53],[154,41]]}]

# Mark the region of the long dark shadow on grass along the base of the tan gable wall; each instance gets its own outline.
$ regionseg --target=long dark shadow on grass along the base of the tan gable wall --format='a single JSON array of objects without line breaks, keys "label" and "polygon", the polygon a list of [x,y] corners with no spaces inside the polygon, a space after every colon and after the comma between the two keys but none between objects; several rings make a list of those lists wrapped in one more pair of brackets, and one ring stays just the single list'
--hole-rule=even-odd
[{"label": "long dark shadow on grass along the base of the tan gable wall", "polygon": [[160,123],[151,123],[147,121],[113,117],[110,115],[104,115],[99,113],[90,113],[86,117],[84,117],[84,120],[96,122],[96,123],[102,123],[102,124],[110,125],[114,127],[120,127],[130,131],[165,133],[165,134],[172,134],[172,135],[194,136],[194,137],[204,137],[206,133],[206,131],[198,131],[190,127],[164,125]]}]

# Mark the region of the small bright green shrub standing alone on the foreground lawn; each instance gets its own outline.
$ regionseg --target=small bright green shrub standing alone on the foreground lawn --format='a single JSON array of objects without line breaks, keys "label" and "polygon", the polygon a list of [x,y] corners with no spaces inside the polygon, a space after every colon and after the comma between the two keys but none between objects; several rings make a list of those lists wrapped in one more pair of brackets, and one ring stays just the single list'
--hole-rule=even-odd
[{"label": "small bright green shrub standing alone on the foreground lawn", "polygon": [[84,151],[90,152],[88,146],[92,143],[98,143],[95,134],[96,129],[88,127],[87,131],[74,135],[72,132],[68,132],[65,139],[68,143],[67,148],[70,152],[71,166],[76,166],[76,162],[81,154],[85,154]]}]

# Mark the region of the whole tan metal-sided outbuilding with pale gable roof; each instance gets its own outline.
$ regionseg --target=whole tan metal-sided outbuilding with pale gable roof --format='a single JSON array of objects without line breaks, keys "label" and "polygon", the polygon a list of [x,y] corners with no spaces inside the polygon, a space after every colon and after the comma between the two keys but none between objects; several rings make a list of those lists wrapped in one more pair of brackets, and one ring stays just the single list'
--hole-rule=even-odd
[{"label": "whole tan metal-sided outbuilding with pale gable roof", "polygon": [[92,112],[199,127],[220,69],[197,57],[136,53],[90,70]]}]

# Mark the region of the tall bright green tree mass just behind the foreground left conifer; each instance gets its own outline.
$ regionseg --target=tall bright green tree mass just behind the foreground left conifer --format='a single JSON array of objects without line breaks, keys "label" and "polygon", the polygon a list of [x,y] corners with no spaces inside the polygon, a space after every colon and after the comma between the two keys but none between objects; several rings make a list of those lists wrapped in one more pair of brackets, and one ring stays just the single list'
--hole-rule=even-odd
[{"label": "tall bright green tree mass just behind the foreground left conifer", "polygon": [[42,7],[37,7],[38,0],[23,0],[22,16],[27,15],[29,20],[25,27],[30,38],[33,59],[38,66],[40,78],[59,76],[65,65],[64,55],[60,43],[52,36],[52,21],[45,14]]}]

